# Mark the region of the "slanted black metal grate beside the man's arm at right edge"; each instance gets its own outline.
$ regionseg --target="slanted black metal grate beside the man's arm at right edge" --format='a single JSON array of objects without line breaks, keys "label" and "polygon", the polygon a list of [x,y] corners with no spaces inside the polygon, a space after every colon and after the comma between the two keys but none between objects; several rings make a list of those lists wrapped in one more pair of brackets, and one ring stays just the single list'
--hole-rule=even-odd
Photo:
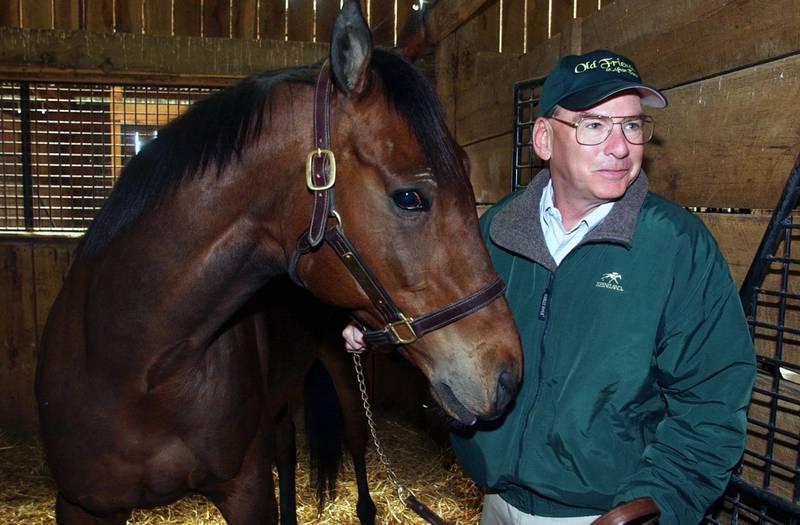
[{"label": "slanted black metal grate beside the man's arm at right edge", "polygon": [[725,497],[742,523],[800,524],[800,157],[740,290],[758,358],[740,471]]}]

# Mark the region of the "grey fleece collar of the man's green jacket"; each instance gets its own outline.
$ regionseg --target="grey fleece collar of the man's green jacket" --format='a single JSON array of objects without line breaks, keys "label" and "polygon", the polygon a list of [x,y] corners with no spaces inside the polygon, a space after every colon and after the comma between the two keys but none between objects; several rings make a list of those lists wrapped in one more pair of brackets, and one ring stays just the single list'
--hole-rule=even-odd
[{"label": "grey fleece collar of the man's green jacket", "polygon": [[[550,170],[540,171],[518,197],[497,213],[489,226],[489,236],[501,248],[555,270],[557,265],[547,249],[539,222],[539,201],[549,180]],[[581,244],[605,241],[630,247],[647,188],[647,176],[641,171],[605,220],[589,232]]]}]

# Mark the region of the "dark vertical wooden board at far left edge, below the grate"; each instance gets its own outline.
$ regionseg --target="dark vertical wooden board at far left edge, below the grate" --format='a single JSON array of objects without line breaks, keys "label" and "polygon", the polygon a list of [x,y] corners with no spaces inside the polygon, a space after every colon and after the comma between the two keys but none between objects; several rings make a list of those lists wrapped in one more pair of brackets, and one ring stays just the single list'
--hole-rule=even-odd
[{"label": "dark vertical wooden board at far left edge, below the grate", "polygon": [[36,319],[33,255],[24,243],[0,244],[0,425],[35,421]]}]

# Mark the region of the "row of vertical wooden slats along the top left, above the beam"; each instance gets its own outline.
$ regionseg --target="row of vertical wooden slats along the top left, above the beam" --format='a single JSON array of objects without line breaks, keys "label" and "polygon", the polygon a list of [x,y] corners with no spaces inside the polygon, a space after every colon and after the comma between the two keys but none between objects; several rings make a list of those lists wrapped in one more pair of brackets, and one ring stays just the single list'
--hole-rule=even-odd
[{"label": "row of vertical wooden slats along the top left, above the beam", "polygon": [[[393,44],[416,1],[361,1],[377,44]],[[0,27],[328,42],[339,4],[340,0],[3,0]]]}]

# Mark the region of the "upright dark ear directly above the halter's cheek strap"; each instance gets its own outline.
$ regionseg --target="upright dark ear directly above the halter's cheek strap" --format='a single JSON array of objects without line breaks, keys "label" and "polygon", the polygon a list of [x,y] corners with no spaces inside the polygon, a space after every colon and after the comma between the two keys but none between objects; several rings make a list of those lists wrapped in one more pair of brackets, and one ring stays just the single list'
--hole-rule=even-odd
[{"label": "upright dark ear directly above the halter's cheek strap", "polygon": [[331,72],[348,97],[364,92],[372,57],[372,35],[357,0],[345,0],[331,36]]}]

